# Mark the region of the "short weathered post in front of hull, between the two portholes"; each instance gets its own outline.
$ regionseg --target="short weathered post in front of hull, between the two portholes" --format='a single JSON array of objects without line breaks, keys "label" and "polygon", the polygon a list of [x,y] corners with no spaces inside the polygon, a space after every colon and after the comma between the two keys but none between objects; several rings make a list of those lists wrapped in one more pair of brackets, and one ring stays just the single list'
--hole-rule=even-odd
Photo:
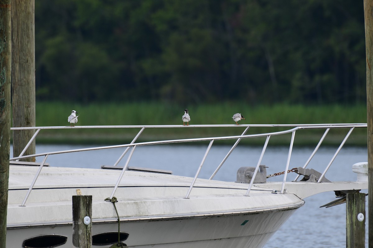
[{"label": "short weathered post in front of hull, between the two portholes", "polygon": [[[88,216],[88,217],[86,217]],[[72,243],[74,247],[92,247],[92,195],[72,196]],[[89,223],[88,223],[89,222]]]}]

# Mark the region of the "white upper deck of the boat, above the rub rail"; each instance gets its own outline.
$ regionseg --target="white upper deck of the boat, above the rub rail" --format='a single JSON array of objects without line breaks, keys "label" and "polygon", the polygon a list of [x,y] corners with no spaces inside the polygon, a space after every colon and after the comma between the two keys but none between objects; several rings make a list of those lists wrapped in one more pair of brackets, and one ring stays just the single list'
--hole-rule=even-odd
[{"label": "white upper deck of the boat, above the rub rail", "polygon": [[[35,166],[10,166],[9,228],[48,225],[51,220],[70,223],[71,197],[76,194],[93,196],[94,222],[116,221],[113,204],[105,199],[112,192],[120,171],[46,167],[40,173],[26,206],[20,207],[36,170]],[[137,221],[237,215],[294,209],[304,204],[294,194],[274,195],[272,189],[254,187],[252,194],[245,196],[248,184],[208,179],[197,179],[186,199],[191,180],[175,175],[126,171],[115,195],[120,218]],[[25,216],[30,216],[30,221]]]}]

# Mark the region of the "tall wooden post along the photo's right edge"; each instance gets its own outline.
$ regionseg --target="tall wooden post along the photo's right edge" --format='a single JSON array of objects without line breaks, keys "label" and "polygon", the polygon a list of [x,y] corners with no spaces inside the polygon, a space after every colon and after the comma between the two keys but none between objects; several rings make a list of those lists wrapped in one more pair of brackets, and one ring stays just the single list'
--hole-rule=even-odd
[{"label": "tall wooden post along the photo's right edge", "polygon": [[[373,0],[364,0],[367,134],[368,134],[368,229],[373,230]],[[373,248],[373,232],[369,232],[369,248]]]}]

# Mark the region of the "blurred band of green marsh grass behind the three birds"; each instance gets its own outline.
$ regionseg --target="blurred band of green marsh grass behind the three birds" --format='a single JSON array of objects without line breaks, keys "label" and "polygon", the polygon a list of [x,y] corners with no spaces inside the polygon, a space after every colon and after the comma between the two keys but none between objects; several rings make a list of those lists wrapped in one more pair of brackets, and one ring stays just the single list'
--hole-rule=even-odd
[{"label": "blurred band of green marsh grass behind the three birds", "polygon": [[[366,123],[365,105],[326,105],[306,106],[277,104],[272,106],[250,106],[244,103],[223,102],[221,104],[203,104],[180,106],[161,102],[138,103],[92,103],[69,104],[62,102],[37,102],[37,126],[69,125],[67,117],[74,109],[79,113],[76,125],[182,125],[181,117],[184,109],[189,109],[191,121],[189,124],[235,124],[232,115],[239,112],[246,120],[239,124],[304,124],[304,123]],[[276,128],[276,131],[284,130]],[[131,141],[139,130],[136,129],[68,129],[43,130],[37,142],[43,143],[125,143]],[[182,139],[186,137],[211,137],[223,135],[239,135],[243,127],[237,128],[148,128],[140,136],[139,141],[157,139]],[[250,128],[248,133],[269,131],[266,128]],[[271,129],[271,131],[274,131]],[[320,130],[320,137],[324,130]],[[348,131],[348,130],[346,130]],[[314,134],[298,135],[295,144],[314,144],[320,139]],[[340,143],[345,133],[330,134],[326,143]],[[366,144],[366,129],[353,132],[353,145]],[[290,137],[290,136],[289,136]],[[290,138],[271,137],[272,143],[288,144]],[[315,141],[316,140],[316,141]],[[234,143],[234,141],[227,141]],[[241,143],[263,144],[262,139],[250,142],[242,140]],[[365,143],[364,143],[365,142]],[[225,143],[225,142],[218,142]],[[348,143],[349,144],[349,143]]]}]

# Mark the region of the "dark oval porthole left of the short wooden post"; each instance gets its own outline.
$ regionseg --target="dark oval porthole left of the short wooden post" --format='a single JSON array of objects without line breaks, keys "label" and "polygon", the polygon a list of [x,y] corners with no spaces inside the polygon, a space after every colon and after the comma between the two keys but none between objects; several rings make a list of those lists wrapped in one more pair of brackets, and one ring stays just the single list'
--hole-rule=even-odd
[{"label": "dark oval porthole left of the short wooden post", "polygon": [[68,237],[61,235],[42,235],[34,238],[25,239],[23,248],[52,248],[63,245],[68,240]]}]

